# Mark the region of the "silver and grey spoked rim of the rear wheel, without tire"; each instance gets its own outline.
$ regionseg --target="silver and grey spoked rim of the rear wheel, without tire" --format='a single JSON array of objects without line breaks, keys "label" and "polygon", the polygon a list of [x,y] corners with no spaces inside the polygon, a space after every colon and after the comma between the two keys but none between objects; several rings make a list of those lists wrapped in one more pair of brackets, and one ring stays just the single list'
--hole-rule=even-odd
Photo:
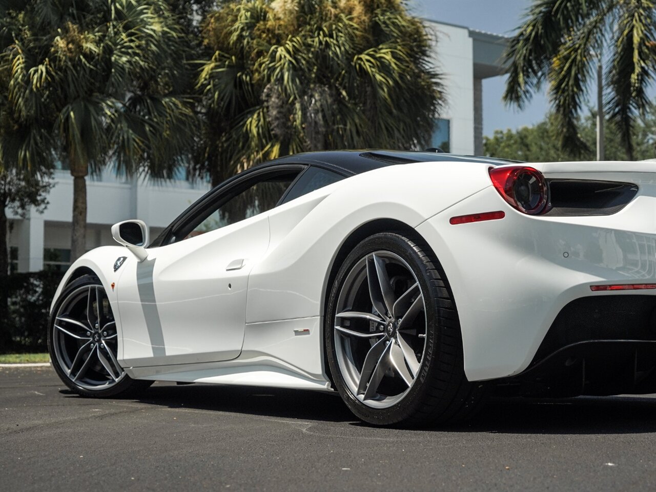
[{"label": "silver and grey spoked rim of the rear wheel, without tire", "polygon": [[342,284],[335,353],[348,389],[365,405],[394,405],[415,383],[426,346],[419,282],[400,256],[363,256]]}]

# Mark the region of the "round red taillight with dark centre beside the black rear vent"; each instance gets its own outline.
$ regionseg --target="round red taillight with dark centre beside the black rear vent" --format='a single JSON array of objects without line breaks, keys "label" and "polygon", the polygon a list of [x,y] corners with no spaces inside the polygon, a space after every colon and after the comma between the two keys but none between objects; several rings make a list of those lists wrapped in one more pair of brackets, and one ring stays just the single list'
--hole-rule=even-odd
[{"label": "round red taillight with dark centre beside the black rear vent", "polygon": [[491,167],[489,174],[497,192],[518,211],[537,215],[546,207],[546,181],[537,169],[528,166]]}]

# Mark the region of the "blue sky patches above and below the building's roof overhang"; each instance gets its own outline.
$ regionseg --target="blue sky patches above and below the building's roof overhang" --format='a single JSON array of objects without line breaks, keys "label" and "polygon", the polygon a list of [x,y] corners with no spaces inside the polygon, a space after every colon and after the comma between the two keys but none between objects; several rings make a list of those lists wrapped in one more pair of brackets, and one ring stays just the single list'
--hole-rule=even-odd
[{"label": "blue sky patches above and below the building's roof overhang", "polygon": [[[512,35],[522,23],[531,0],[409,0],[409,9],[419,17],[458,24],[470,29]],[[501,100],[506,77],[483,80],[483,134],[495,130],[518,129],[544,119],[548,102],[544,89],[520,111]]]}]

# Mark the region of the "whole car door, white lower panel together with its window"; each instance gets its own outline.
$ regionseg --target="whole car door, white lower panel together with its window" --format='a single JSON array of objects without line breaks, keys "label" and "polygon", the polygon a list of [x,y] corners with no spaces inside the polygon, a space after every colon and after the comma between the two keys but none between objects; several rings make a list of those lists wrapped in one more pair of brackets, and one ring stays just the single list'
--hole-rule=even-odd
[{"label": "whole car door, white lower panel together with its window", "polygon": [[126,261],[116,286],[125,365],[239,356],[249,272],[269,245],[267,211],[301,169],[247,173],[190,207],[146,260]]}]

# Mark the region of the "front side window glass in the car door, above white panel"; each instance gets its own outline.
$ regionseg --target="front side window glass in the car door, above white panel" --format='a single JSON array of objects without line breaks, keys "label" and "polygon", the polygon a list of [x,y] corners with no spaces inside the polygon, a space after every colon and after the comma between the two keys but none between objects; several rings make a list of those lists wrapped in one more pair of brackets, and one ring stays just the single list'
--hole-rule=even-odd
[{"label": "front side window glass in the car door, above white panel", "polygon": [[176,231],[171,242],[199,236],[276,207],[299,172],[287,171],[263,177],[245,184],[245,188],[237,188],[232,194],[218,197],[214,206],[208,207]]}]

